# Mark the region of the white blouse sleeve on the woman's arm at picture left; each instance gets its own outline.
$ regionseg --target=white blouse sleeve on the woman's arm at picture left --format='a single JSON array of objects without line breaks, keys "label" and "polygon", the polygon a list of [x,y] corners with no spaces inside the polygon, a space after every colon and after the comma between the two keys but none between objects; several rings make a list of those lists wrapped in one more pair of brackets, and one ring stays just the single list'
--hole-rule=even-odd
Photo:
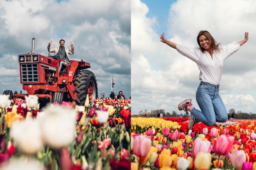
[{"label": "white blouse sleeve on the woman's arm at picture left", "polygon": [[184,45],[177,44],[176,49],[181,55],[188,57],[192,61],[194,62],[199,61],[199,54],[200,54],[199,48],[189,48]]}]

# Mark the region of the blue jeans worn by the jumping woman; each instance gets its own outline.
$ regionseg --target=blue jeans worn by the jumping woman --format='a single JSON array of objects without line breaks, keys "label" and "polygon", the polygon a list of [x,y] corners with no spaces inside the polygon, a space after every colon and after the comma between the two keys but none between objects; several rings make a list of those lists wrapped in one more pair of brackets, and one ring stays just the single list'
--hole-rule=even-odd
[{"label": "blue jeans worn by the jumping woman", "polygon": [[192,108],[191,114],[193,118],[200,120],[207,126],[213,126],[215,122],[227,121],[227,111],[221,96],[218,94],[218,88],[219,85],[200,82],[196,92],[196,101],[201,111]]}]

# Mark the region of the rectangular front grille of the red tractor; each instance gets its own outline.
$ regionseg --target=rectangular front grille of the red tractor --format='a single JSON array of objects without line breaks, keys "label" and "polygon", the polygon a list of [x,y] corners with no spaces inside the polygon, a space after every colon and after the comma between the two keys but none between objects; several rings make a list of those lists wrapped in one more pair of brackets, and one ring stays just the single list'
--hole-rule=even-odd
[{"label": "rectangular front grille of the red tractor", "polygon": [[38,82],[38,63],[21,64],[22,82]]}]

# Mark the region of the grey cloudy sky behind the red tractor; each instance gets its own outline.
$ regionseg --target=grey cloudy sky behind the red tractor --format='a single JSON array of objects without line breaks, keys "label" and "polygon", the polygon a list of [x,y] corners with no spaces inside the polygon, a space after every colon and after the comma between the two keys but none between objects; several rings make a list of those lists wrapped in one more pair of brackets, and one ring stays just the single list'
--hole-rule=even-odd
[{"label": "grey cloudy sky behind the red tractor", "polygon": [[46,56],[50,40],[55,48],[64,39],[70,49],[72,41],[75,54],[70,59],[90,62],[99,96],[109,96],[111,75],[113,91],[131,96],[130,0],[1,0],[1,94],[22,90],[17,55],[31,51],[33,37],[35,52]]}]

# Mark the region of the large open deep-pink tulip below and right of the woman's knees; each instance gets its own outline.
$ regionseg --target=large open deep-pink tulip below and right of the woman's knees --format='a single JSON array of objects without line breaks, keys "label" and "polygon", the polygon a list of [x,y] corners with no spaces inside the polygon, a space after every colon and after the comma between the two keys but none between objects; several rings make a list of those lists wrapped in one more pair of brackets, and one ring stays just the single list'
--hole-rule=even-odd
[{"label": "large open deep-pink tulip below and right of the woman's knees", "polygon": [[226,155],[233,148],[234,137],[233,136],[218,136],[217,140],[212,139],[212,144],[215,153]]}]

